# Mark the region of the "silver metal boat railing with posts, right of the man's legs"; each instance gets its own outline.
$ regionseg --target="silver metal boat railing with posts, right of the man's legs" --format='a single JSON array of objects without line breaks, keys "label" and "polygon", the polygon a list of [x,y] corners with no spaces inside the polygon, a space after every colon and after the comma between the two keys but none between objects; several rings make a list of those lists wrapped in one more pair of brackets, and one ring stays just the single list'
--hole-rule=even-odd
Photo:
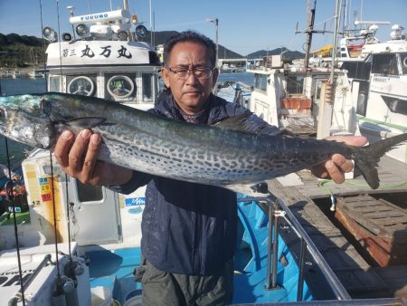
[{"label": "silver metal boat railing with posts, right of the man's legs", "polygon": [[[303,288],[304,288],[304,267],[306,264],[306,252],[311,255],[313,260],[317,263],[321,273],[327,280],[327,285],[334,293],[337,300],[351,300],[351,296],[346,292],[343,284],[337,279],[336,274],[332,271],[331,267],[318,251],[317,246],[313,243],[304,228],[299,224],[296,216],[290,211],[289,207],[284,201],[275,196],[265,197],[246,197],[240,198],[239,202],[255,202],[261,208],[268,210],[269,215],[269,252],[267,264],[267,289],[273,289],[278,286],[277,284],[277,262],[279,253],[279,219],[282,218],[293,229],[300,239],[300,253],[299,253],[299,273],[298,273],[298,291],[297,301],[303,301]],[[260,205],[260,203],[265,205]],[[265,208],[266,207],[266,208]]]}]

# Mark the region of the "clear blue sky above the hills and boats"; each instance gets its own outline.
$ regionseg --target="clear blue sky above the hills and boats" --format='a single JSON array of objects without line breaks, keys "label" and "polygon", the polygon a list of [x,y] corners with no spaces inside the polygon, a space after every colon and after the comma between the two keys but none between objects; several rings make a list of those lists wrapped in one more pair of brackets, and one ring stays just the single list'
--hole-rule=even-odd
[{"label": "clear blue sky above the hills and boats", "polygon": [[[130,13],[137,14],[147,29],[152,27],[156,31],[192,29],[214,41],[215,25],[206,20],[218,18],[219,43],[241,55],[282,46],[303,52],[306,36],[295,32],[297,24],[299,31],[307,26],[308,2],[314,4],[314,0],[128,0]],[[41,37],[41,13],[43,26],[61,33],[71,32],[68,5],[74,6],[75,15],[82,15],[109,11],[110,4],[116,10],[121,8],[122,1],[0,0],[0,33]],[[326,30],[332,31],[335,0],[318,0],[316,12],[314,28],[322,30],[325,25]],[[407,0],[347,0],[347,12],[350,24],[357,14],[360,20],[387,21],[407,28]],[[380,25],[377,37],[387,40],[390,32],[391,25]],[[311,49],[331,43],[332,34],[315,34]]]}]

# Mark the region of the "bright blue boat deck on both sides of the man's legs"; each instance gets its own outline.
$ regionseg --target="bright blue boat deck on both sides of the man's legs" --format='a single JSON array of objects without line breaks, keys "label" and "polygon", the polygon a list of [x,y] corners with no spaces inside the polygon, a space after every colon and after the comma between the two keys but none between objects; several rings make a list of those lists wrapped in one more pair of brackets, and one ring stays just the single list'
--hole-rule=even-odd
[{"label": "bright blue boat deck on both sides of the man's legs", "polygon": [[[268,218],[259,206],[239,203],[239,238],[235,253],[234,303],[296,301],[298,266],[287,245],[279,237],[277,279],[279,289],[266,290]],[[90,286],[108,287],[113,299],[124,303],[135,293],[141,293],[141,283],[134,281],[133,271],[140,264],[140,249],[118,249],[114,252],[100,248],[86,253],[90,258]],[[312,300],[307,284],[304,285],[305,301]]]}]

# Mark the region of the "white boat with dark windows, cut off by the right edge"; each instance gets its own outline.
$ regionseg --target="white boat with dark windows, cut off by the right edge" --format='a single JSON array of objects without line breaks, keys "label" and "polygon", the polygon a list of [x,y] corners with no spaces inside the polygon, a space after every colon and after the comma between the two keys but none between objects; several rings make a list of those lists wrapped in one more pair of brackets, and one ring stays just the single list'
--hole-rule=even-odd
[{"label": "white boat with dark windows, cut off by the right edge", "polygon": [[[370,25],[357,57],[340,58],[351,90],[357,97],[356,116],[361,132],[377,141],[407,131],[407,41],[399,24],[392,26],[391,39],[379,42]],[[367,38],[366,35],[369,35]],[[389,155],[407,163],[407,145],[394,148]]]}]

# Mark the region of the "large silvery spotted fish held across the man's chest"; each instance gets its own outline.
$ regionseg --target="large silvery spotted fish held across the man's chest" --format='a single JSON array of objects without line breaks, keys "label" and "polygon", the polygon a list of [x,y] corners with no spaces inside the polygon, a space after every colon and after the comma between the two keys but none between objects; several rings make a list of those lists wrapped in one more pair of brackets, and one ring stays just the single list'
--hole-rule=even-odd
[{"label": "large silvery spotted fish held across the man's chest", "polygon": [[118,103],[44,93],[0,98],[0,133],[35,148],[52,148],[65,129],[89,128],[103,144],[99,159],[160,177],[241,190],[236,186],[317,165],[334,153],[355,159],[377,188],[377,162],[407,134],[364,148],[335,141],[264,135],[240,129],[244,116],[215,126],[168,120]]}]

